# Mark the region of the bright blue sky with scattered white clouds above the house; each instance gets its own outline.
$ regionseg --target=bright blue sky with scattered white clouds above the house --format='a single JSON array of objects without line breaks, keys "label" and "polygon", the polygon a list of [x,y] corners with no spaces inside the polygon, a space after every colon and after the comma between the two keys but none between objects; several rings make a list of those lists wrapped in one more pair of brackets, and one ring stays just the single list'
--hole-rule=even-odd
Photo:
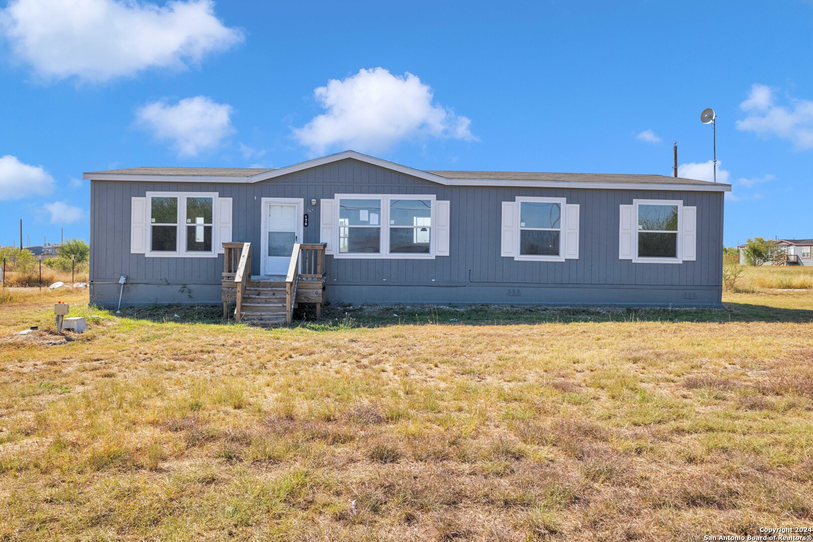
[{"label": "bright blue sky with scattered white clouds above the house", "polygon": [[706,179],[705,107],[725,243],[813,237],[811,2],[0,5],[0,245],[87,238],[116,167],[669,175],[676,140]]}]

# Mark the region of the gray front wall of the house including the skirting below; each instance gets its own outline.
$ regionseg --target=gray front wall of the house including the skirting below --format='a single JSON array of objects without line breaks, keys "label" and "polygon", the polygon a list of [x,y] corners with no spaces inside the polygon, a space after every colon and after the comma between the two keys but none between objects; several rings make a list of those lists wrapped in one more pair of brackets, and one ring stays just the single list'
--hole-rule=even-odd
[{"label": "gray front wall of the house including the skirting below", "polygon": [[[302,197],[320,241],[320,206],[335,193],[435,194],[450,201],[450,256],[433,260],[326,257],[329,301],[349,303],[552,303],[720,306],[723,193],[610,189],[450,187],[346,159],[255,184],[91,182],[91,299],[115,306],[154,302],[218,303],[223,259],[146,258],[130,254],[130,198],[146,192],[217,192],[233,198],[233,241],[259,250],[262,197]],[[500,256],[502,202],[516,196],[566,197],[580,205],[579,258],[517,262]],[[697,261],[620,260],[619,206],[633,199],[680,199],[698,208]],[[259,274],[254,258],[253,274]]]}]

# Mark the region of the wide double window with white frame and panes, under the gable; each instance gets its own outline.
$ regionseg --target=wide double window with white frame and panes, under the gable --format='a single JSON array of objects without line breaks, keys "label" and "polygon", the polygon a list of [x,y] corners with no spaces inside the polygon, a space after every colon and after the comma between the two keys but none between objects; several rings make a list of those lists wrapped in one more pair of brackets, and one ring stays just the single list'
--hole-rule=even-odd
[{"label": "wide double window with white frame and panes, under the gable", "polygon": [[338,258],[435,257],[433,195],[337,194],[332,201]]}]

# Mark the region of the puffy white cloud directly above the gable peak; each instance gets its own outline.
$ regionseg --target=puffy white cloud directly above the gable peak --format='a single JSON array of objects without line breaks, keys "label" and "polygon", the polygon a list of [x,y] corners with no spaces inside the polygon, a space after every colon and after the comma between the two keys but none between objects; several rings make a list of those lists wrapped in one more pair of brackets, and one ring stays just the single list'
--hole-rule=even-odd
[{"label": "puffy white cloud directly above the gable peak", "polygon": [[363,69],[329,80],[314,96],[326,112],[293,135],[316,154],[337,146],[375,152],[418,137],[476,141],[472,121],[433,103],[432,89],[409,72],[393,76],[383,67]]}]

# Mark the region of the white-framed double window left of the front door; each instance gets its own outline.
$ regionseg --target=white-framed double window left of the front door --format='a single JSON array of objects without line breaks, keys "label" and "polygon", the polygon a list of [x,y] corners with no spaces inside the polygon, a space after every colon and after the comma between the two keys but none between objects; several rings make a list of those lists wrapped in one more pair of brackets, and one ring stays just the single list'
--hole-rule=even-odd
[{"label": "white-framed double window left of the front door", "polygon": [[147,193],[147,252],[152,256],[216,256],[216,193]]}]

